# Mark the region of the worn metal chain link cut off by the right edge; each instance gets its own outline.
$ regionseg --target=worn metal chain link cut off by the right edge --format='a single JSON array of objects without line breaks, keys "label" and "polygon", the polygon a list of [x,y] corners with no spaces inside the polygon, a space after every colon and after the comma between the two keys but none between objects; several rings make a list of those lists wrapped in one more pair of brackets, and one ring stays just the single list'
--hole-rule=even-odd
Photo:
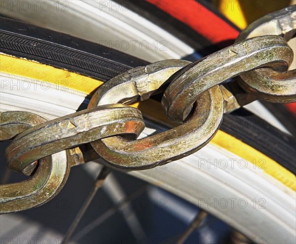
[{"label": "worn metal chain link cut off by the right edge", "polygon": [[[236,39],[260,35],[281,35],[287,41],[296,35],[296,6],[268,14],[248,26]],[[260,99],[273,103],[296,101],[296,70],[251,70],[240,75],[239,85]]]}]

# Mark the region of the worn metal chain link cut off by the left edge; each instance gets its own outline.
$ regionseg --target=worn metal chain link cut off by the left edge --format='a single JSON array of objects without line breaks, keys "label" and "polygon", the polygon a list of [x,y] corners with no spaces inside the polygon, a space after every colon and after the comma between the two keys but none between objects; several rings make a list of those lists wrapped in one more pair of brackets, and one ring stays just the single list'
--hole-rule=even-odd
[{"label": "worn metal chain link cut off by the left edge", "polygon": [[[11,139],[46,120],[29,112],[0,113],[0,140]],[[39,160],[36,172],[17,183],[0,185],[0,213],[35,208],[55,197],[70,173],[66,151]]]}]

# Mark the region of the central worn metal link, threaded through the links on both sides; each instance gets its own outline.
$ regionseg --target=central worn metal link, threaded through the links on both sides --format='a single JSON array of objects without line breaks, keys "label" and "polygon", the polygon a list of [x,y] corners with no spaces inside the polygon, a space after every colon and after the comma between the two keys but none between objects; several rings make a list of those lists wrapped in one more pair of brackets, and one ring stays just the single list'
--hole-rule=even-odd
[{"label": "central worn metal link, threaded through the links on both sides", "polygon": [[[89,107],[123,100],[131,103],[140,97],[148,99],[152,91],[188,63],[165,60],[127,71],[103,84],[93,95]],[[147,83],[145,79],[148,79]],[[120,87],[128,87],[128,92]],[[217,86],[203,94],[191,118],[177,128],[134,141],[112,137],[91,142],[91,145],[114,167],[149,169],[183,158],[203,147],[217,132],[222,115],[223,98]]]}]

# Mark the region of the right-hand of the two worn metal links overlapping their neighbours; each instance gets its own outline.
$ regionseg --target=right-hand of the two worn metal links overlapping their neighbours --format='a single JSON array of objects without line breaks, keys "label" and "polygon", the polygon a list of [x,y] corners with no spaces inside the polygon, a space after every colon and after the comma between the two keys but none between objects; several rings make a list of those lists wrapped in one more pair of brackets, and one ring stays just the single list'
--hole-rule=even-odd
[{"label": "right-hand of the two worn metal links overlapping their neighbours", "polygon": [[162,104],[169,119],[184,121],[198,96],[225,80],[259,67],[285,70],[293,50],[280,36],[260,36],[243,40],[178,72],[165,90]]}]

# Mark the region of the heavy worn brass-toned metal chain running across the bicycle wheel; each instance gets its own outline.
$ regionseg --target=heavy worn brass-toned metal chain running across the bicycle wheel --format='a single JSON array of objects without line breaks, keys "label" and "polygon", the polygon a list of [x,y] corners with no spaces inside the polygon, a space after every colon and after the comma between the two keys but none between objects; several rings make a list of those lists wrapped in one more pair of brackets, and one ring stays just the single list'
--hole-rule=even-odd
[{"label": "heavy worn brass-toned metal chain running across the bicycle wheel", "polygon": [[[5,151],[7,165],[31,175],[0,185],[0,213],[49,201],[63,187],[71,166],[100,156],[111,167],[149,169],[206,145],[223,113],[258,98],[296,102],[296,70],[287,71],[293,60],[287,41],[295,33],[294,5],[259,19],[233,45],[195,63],[164,60],[112,78],[85,110],[48,122],[28,112],[0,113],[0,140],[15,137]],[[164,88],[162,104],[179,126],[136,140],[144,120],[140,110],[127,105]]]}]

